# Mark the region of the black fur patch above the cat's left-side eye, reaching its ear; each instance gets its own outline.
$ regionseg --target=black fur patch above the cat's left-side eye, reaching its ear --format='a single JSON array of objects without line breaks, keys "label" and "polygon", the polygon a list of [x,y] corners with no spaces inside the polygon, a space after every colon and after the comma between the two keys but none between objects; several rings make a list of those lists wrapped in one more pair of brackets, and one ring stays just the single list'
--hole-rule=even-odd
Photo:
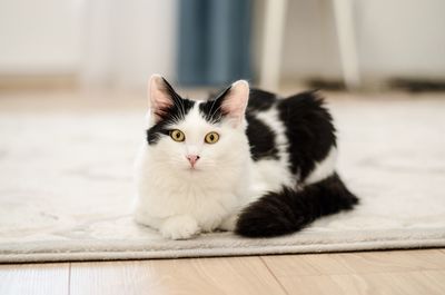
[{"label": "black fur patch above the cat's left-side eye, reaching its ear", "polygon": [[169,126],[184,120],[185,116],[195,106],[195,101],[181,98],[166,80],[164,81],[172,105],[157,112],[160,116],[160,120],[147,130],[147,142],[149,145],[156,145],[161,136],[167,136],[170,131]]}]

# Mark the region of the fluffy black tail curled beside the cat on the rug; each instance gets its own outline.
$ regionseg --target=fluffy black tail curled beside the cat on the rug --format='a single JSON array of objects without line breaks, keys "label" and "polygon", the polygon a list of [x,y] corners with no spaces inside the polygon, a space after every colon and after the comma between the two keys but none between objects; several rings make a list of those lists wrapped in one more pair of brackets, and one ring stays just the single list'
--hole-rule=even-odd
[{"label": "fluffy black tail curled beside the cat on the rug", "polygon": [[297,232],[316,218],[348,210],[358,203],[337,174],[304,187],[268,193],[240,214],[235,232],[247,237],[271,237]]}]

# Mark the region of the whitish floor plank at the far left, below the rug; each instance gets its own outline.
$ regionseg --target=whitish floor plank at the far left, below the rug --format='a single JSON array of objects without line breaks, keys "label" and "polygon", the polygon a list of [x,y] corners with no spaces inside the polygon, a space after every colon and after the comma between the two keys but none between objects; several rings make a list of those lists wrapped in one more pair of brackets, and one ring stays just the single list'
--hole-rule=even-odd
[{"label": "whitish floor plank at the far left, below the rug", "polygon": [[0,265],[0,294],[68,295],[69,264]]}]

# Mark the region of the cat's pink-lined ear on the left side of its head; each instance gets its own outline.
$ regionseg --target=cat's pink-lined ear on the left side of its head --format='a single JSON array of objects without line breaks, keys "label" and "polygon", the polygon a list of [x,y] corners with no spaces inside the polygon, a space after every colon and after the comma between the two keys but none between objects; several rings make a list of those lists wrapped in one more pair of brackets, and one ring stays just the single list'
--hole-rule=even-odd
[{"label": "cat's pink-lined ear on the left side of its head", "polygon": [[148,81],[148,107],[155,122],[159,121],[166,111],[175,104],[176,92],[160,75],[152,75]]}]

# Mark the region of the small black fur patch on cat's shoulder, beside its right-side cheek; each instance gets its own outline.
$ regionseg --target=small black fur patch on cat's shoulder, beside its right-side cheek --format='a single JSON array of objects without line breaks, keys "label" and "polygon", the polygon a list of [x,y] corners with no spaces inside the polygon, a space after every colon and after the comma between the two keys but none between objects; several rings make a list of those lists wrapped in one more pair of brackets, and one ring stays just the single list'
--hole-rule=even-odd
[{"label": "small black fur patch on cat's shoulder, beside its right-side cheek", "polygon": [[247,114],[246,119],[248,122],[246,135],[249,139],[251,158],[279,159],[278,149],[275,147],[275,132],[253,115]]}]

